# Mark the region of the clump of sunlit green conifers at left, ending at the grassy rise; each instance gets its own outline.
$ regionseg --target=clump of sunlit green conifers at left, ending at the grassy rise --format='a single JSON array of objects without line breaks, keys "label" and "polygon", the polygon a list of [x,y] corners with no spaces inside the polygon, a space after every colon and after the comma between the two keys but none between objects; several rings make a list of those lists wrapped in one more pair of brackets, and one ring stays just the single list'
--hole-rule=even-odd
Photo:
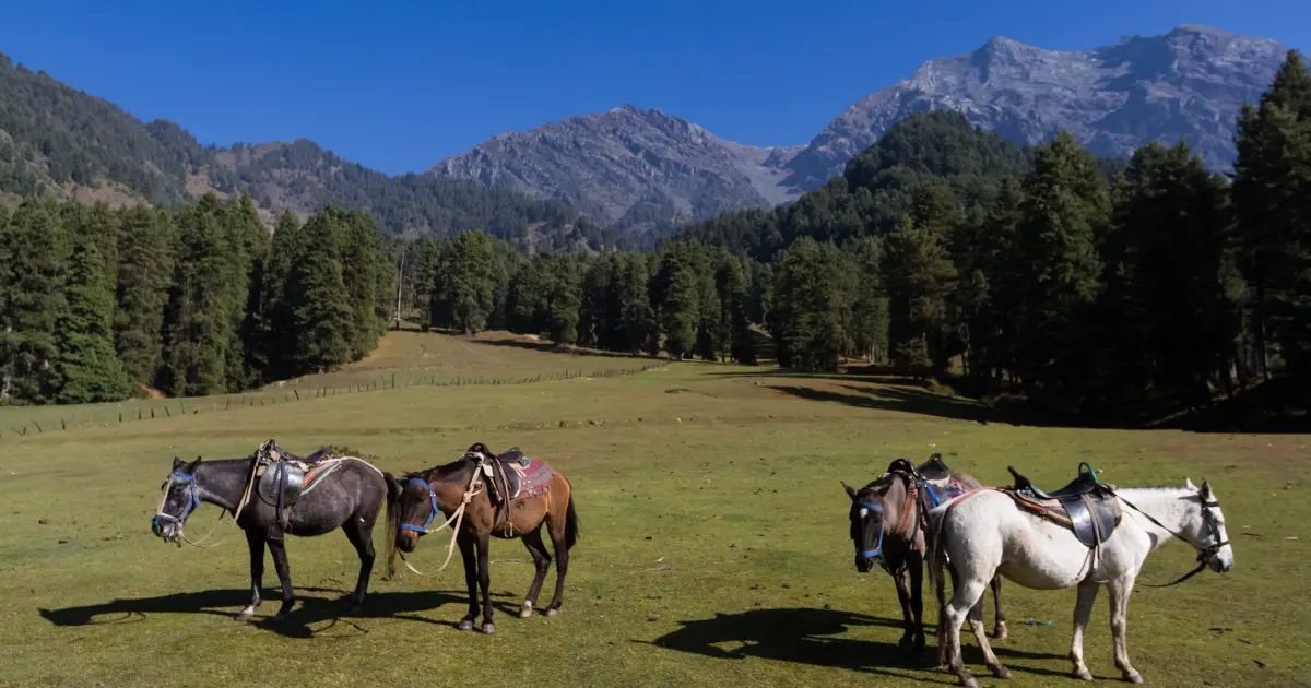
[{"label": "clump of sunlit green conifers at left, ending at the grassy rise", "polygon": [[0,208],[0,402],[240,392],[357,360],[385,329],[392,250],[333,207],[270,241],[250,197]]}]

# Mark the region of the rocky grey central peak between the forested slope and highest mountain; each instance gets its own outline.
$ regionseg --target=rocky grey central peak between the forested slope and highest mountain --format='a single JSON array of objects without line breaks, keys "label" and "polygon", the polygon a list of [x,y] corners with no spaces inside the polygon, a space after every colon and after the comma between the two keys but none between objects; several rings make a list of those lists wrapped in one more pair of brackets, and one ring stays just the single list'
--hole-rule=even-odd
[{"label": "rocky grey central peak between the forested slope and highest mountain", "polygon": [[796,148],[756,148],[632,105],[509,132],[430,174],[509,185],[620,227],[791,201],[780,166]]}]

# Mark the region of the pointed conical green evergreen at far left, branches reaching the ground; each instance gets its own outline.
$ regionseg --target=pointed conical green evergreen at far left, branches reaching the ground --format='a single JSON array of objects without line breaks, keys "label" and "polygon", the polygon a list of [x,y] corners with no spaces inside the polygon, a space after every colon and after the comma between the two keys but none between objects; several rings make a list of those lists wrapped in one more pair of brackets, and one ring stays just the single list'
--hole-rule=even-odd
[{"label": "pointed conical green evergreen at far left, branches reaching the ground", "polygon": [[73,249],[67,308],[55,324],[51,388],[58,404],[118,401],[128,394],[127,375],[114,353],[114,300],[104,270],[96,242]]}]

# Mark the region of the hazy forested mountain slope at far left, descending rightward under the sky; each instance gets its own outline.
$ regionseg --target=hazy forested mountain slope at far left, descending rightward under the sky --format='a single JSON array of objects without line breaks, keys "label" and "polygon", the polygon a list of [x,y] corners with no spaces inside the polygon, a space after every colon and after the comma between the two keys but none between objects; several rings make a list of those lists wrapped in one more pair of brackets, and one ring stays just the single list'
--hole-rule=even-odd
[{"label": "hazy forested mountain slope at far left, descending rightward under the sky", "polygon": [[388,233],[484,228],[551,248],[594,248],[595,224],[553,201],[464,180],[388,177],[308,140],[218,148],[173,122],[143,123],[0,54],[0,202],[51,193],[83,202],[178,207],[206,193],[250,193],[271,225],[333,203],[371,212]]}]

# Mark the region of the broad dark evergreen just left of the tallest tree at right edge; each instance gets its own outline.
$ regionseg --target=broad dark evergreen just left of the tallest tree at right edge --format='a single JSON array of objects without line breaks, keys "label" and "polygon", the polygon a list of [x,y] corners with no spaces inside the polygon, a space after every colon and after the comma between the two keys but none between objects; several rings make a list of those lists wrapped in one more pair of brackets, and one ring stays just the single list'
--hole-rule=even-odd
[{"label": "broad dark evergreen just left of the tallest tree at right edge", "polygon": [[1185,144],[1139,148],[1116,186],[1106,253],[1103,318],[1120,334],[1099,368],[1108,387],[1121,402],[1207,404],[1213,384],[1227,385],[1238,335],[1223,178]]}]

